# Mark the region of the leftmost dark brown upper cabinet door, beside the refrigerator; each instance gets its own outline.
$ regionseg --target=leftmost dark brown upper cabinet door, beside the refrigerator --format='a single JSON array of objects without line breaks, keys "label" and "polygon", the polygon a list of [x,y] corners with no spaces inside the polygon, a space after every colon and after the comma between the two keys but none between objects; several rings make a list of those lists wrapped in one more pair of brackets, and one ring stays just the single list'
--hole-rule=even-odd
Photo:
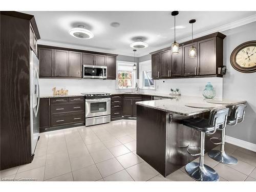
[{"label": "leftmost dark brown upper cabinet door, beside the refrigerator", "polygon": [[39,77],[54,76],[54,50],[48,48],[38,48],[39,56]]}]

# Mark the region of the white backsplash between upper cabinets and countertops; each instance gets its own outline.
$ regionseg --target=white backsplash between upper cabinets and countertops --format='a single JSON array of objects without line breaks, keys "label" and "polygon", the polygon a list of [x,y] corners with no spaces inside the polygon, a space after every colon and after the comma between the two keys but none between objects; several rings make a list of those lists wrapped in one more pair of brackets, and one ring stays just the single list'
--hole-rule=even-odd
[{"label": "white backsplash between upper cabinets and countertops", "polygon": [[[189,79],[164,79],[156,80],[156,90],[147,92],[170,93],[170,89],[180,89],[182,95],[202,96],[202,91],[207,82],[211,82],[216,90],[216,98],[222,98],[223,80],[218,77],[189,78]],[[39,79],[40,95],[52,95],[52,88],[69,90],[69,95],[83,92],[119,92],[115,80],[101,79]]]}]

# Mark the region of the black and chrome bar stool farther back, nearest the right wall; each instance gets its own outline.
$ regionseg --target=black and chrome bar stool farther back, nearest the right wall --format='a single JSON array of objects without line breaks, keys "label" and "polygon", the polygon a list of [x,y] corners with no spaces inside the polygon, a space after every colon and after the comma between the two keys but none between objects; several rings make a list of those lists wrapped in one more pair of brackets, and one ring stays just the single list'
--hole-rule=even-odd
[{"label": "black and chrome bar stool farther back, nearest the right wall", "polygon": [[[244,113],[245,113],[245,104],[238,104],[232,106],[232,110],[230,115],[227,118],[227,124],[234,126],[238,122],[242,122],[244,120]],[[219,138],[211,138],[210,140],[214,144],[221,144],[221,151],[219,150],[211,150],[208,152],[208,155],[210,158],[224,164],[229,164],[229,165],[234,165],[238,163],[237,158],[234,158],[231,155],[228,155],[225,153],[224,147],[225,147],[225,130],[226,128],[222,129],[222,135],[221,135],[221,142],[220,143],[215,143],[214,139],[219,139]]]}]

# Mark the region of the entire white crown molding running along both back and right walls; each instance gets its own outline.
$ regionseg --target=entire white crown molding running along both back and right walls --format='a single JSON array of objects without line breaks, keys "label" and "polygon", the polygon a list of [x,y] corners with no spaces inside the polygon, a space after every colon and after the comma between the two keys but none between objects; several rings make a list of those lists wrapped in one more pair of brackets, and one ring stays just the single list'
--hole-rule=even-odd
[{"label": "entire white crown molding running along both back and right walls", "polygon": [[[201,32],[201,33],[197,33],[197,34],[194,35],[194,38],[198,38],[198,37],[201,37],[201,36],[204,36],[204,35],[208,35],[208,34],[211,34],[211,33],[215,33],[215,32],[223,32],[223,31],[226,31],[226,30],[229,30],[229,29],[233,29],[233,28],[237,28],[237,27],[240,27],[240,26],[252,23],[252,22],[256,22],[256,14],[248,16],[248,17],[245,17],[245,18],[242,18],[242,19],[239,19],[239,20],[237,20],[235,22],[231,22],[231,23],[226,24],[226,25],[222,25],[222,26],[219,26],[219,27],[216,27],[216,28],[213,28],[213,29]],[[185,42],[185,41],[188,41],[190,39],[191,39],[191,37],[188,36],[186,38],[178,39],[177,41],[178,42]],[[54,42],[54,41],[47,41],[47,40],[41,40],[41,39],[38,40],[38,44],[46,45],[46,46],[70,48],[70,49],[80,49],[80,50],[87,50],[87,51],[119,54],[119,55],[125,55],[125,56],[133,57],[133,54],[127,54],[127,53],[120,52],[120,51],[118,53],[113,53],[115,51],[110,51],[110,50],[105,50],[105,49],[98,49],[98,48],[92,48],[92,47],[86,47],[86,46],[78,46],[78,45],[72,45],[72,44],[64,44],[62,42]],[[171,43],[163,45],[163,46],[158,47],[156,49],[149,50],[149,52],[147,54],[139,54],[138,53],[137,57],[142,57],[142,56],[148,55],[150,52],[154,52],[154,51],[157,51],[157,50],[160,50],[160,49],[164,49],[164,48],[170,47],[170,44]]]}]

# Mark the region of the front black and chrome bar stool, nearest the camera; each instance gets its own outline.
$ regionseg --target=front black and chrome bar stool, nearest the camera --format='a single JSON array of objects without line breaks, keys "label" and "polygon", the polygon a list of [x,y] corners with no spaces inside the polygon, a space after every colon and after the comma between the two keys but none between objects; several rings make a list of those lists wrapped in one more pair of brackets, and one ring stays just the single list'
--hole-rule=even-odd
[{"label": "front black and chrome bar stool, nearest the camera", "polygon": [[[204,164],[204,140],[205,134],[214,134],[217,129],[224,129],[227,123],[228,108],[218,108],[213,109],[210,112],[209,119],[195,118],[184,120],[183,124],[192,129],[201,132],[200,138],[200,153],[193,154],[190,150],[191,148],[197,146],[190,146],[187,148],[187,152],[190,155],[197,156],[200,155],[199,163],[190,162],[185,166],[186,172],[190,177],[198,181],[219,181],[218,173],[208,165]],[[221,127],[221,128],[220,128]]]}]

